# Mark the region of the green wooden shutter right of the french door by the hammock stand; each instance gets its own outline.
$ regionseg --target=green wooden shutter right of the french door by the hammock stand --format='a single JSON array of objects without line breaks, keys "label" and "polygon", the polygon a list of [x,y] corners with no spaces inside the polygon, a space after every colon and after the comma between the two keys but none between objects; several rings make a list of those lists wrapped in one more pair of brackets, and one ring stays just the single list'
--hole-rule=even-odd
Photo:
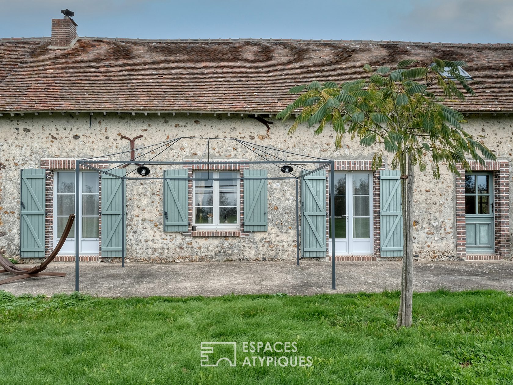
[{"label": "green wooden shutter right of the french door by the hammock stand", "polygon": [[[125,169],[115,168],[109,172],[119,176],[125,175]],[[123,233],[122,183],[126,186],[125,180],[102,174],[102,257],[123,256],[126,226]]]}]

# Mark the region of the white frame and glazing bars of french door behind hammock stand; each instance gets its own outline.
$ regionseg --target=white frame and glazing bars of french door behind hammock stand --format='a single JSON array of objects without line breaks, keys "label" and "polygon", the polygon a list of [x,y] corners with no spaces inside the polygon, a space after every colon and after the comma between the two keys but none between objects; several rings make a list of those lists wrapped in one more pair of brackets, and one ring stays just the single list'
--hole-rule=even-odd
[{"label": "white frame and glazing bars of french door behind hammock stand", "polygon": [[[89,193],[89,192],[82,192],[82,176],[85,172],[91,172],[91,173],[94,173],[96,175],[98,175],[97,172],[95,171],[88,171],[88,170],[81,170],[80,171],[80,202],[78,204],[78,220],[76,220],[75,218],[75,226],[79,226],[79,234],[82,234],[82,196],[83,195],[91,195],[93,193]],[[54,212],[54,216],[53,216],[53,245],[55,247],[55,245],[57,244],[57,242],[61,239],[60,237],[57,237],[57,185],[58,185],[58,174],[63,174],[63,173],[67,173],[67,174],[73,174],[73,179],[75,177],[75,171],[74,170],[54,170],[53,171],[53,175],[54,175],[54,183],[53,183],[53,212]],[[98,180],[98,202],[100,202],[100,185],[99,185],[100,181]],[[67,193],[58,193],[58,195],[73,195],[75,196],[75,193],[76,193],[76,186],[75,186],[75,191],[73,193],[71,192],[67,192]],[[75,204],[76,204],[76,196],[75,196]],[[98,204],[99,206],[99,204]],[[67,217],[67,216],[59,216],[59,217]],[[95,216],[90,216],[90,215],[85,215],[84,217],[95,217]],[[99,219],[100,219],[100,210],[99,210],[99,207],[98,207],[98,222],[99,222]],[[98,235],[100,234],[100,227],[101,225],[98,225]],[[85,251],[83,252],[82,250],[82,246],[83,246],[83,243],[82,241],[92,241],[92,242],[96,242],[98,243],[98,247],[100,245],[100,237],[97,237],[97,238],[84,238],[84,237],[80,237],[80,248],[79,248],[79,252],[80,254],[86,254],[86,255],[89,255],[91,253],[93,254],[96,254],[94,253],[94,251],[90,252],[90,251]],[[75,232],[73,232],[73,234],[70,234],[70,236],[66,239],[66,242],[72,242],[74,244],[75,242]],[[64,249],[66,249],[66,247],[63,247]],[[62,251],[60,254],[69,254],[69,252],[66,252],[66,250]]]}]

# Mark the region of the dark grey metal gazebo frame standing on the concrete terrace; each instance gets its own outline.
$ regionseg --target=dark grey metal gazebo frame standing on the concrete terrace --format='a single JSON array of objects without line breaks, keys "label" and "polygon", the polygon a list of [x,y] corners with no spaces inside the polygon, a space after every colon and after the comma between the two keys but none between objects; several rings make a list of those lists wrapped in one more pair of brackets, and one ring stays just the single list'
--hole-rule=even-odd
[{"label": "dark grey metal gazebo frame standing on the concrete terrace", "polygon": [[[192,146],[190,142],[204,142],[206,144],[205,150],[203,151],[203,155],[201,156],[201,159],[194,159],[194,160],[182,160],[182,161],[174,161],[169,159],[176,159],[172,156],[169,156],[170,149],[173,148],[173,145],[177,142],[187,142],[187,147],[191,148]],[[227,155],[224,153],[222,156],[219,154],[216,155],[218,158],[221,159],[211,159],[210,158],[210,142],[222,142],[222,141],[231,141],[233,145],[230,144],[230,146],[227,146],[227,150],[242,150],[244,151],[243,156],[245,158],[252,157],[250,160],[248,159],[235,159],[230,158],[230,160],[226,160],[227,157],[231,157],[232,155]],[[219,146],[218,146],[219,147]],[[137,151],[139,155],[137,157],[134,157],[133,159],[130,159],[130,152],[131,151]],[[166,151],[168,156],[165,157]],[[191,151],[192,152],[192,151]],[[200,153],[201,151],[194,152],[194,155]],[[205,157],[206,155],[206,157]],[[126,158],[129,158],[130,160],[127,160]],[[155,160],[155,158],[160,157],[164,160]],[[144,164],[144,165],[143,165]],[[319,257],[326,257],[326,252],[328,251],[328,247],[326,244],[326,221],[327,221],[327,210],[326,210],[326,169],[329,169],[331,180],[334,180],[334,161],[330,159],[323,159],[323,158],[316,158],[312,157],[310,155],[304,155],[299,154],[295,152],[291,152],[288,150],[270,147],[270,146],[264,146],[261,144],[256,143],[250,143],[246,142],[242,139],[236,139],[236,138],[196,138],[196,137],[180,137],[180,138],[174,138],[170,140],[166,140],[164,142],[151,144],[148,146],[136,148],[134,150],[126,150],[116,153],[111,153],[103,156],[98,157],[92,157],[87,159],[81,159],[76,161],[75,166],[75,194],[76,196],[80,196],[80,169],[81,168],[89,168],[91,170],[95,170],[97,172],[100,172],[102,175],[102,178],[109,179],[115,178],[114,180],[117,180],[115,183],[119,188],[121,192],[121,207],[123,209],[117,210],[115,213],[108,213],[109,215],[117,215],[119,216],[117,218],[117,221],[121,221],[122,229],[121,229],[121,236],[118,233],[116,236],[120,238],[121,246],[117,248],[117,250],[121,250],[121,260],[122,260],[122,267],[125,267],[125,254],[126,254],[126,246],[125,246],[125,216],[126,216],[126,199],[125,199],[125,190],[126,181],[130,180],[136,180],[136,181],[150,181],[150,180],[161,180],[163,183],[173,182],[173,181],[183,181],[184,178],[189,181],[205,181],[204,179],[196,179],[195,177],[191,177],[192,174],[188,174],[188,176],[179,175],[179,170],[183,170],[184,167],[188,169],[194,169],[194,170],[210,170],[210,168],[218,167],[216,169],[223,169],[222,167],[225,167],[227,170],[232,170],[234,164],[237,164],[241,167],[244,167],[244,170],[251,169],[253,166],[274,166],[276,167],[276,170],[281,171],[283,173],[283,176],[272,176],[272,174],[268,174],[267,172],[260,172],[262,170],[255,170],[252,171],[259,171],[257,174],[251,175],[250,172],[244,171],[241,172],[241,176],[236,178],[236,180],[240,180],[241,182],[244,182],[244,180],[250,180],[250,181],[270,181],[270,180],[294,180],[295,181],[295,221],[296,221],[296,264],[299,265],[300,261],[300,243],[302,247],[302,255],[303,257],[313,257],[313,258],[319,258]],[[161,176],[149,176],[150,174],[150,168],[152,165],[156,166],[158,169],[162,169],[162,166],[174,166],[175,168],[164,170],[162,177]],[[132,166],[133,169],[129,171],[125,171],[124,167]],[[149,167],[148,167],[149,166]],[[101,167],[107,167],[107,168],[101,168]],[[221,168],[219,168],[221,167]],[[294,172],[294,168],[299,169]],[[167,173],[167,172],[169,173]],[[138,175],[134,175],[133,173],[136,172]],[[177,174],[178,173],[178,174]],[[144,177],[144,178],[141,178]],[[220,181],[220,178],[208,178],[212,181],[218,180]],[[226,180],[226,179],[223,179]],[[300,191],[300,183],[301,183],[301,198],[302,200],[305,199],[306,194],[311,194],[311,196],[308,199],[309,204],[311,204],[311,207],[305,207],[302,205],[301,208],[301,225],[302,225],[302,234],[300,237],[300,205],[299,205],[299,191]],[[318,182],[317,185],[314,183]],[[312,188],[312,184],[317,187]],[[102,188],[102,192],[103,192]],[[313,196],[313,191],[317,191],[316,194],[318,194],[317,198]],[[329,191],[330,191],[330,206],[334,207],[334,184],[329,184]],[[305,194],[305,195],[304,195]],[[189,197],[188,197],[189,200]],[[80,200],[75,199],[75,216],[79,218],[80,214]],[[306,202],[306,201],[303,201]],[[323,206],[324,202],[324,207]],[[313,209],[312,209],[313,207]],[[314,212],[315,209],[317,209],[317,212]],[[119,213],[118,213],[119,211]],[[117,213],[117,214],[116,214]],[[264,213],[265,214],[265,213]],[[167,215],[167,214],[166,214]],[[335,286],[335,213],[334,210],[331,210],[331,220],[330,220],[330,226],[331,226],[331,288],[334,289]],[[324,218],[324,220],[322,219]],[[316,222],[317,221],[317,222]],[[324,221],[324,222],[323,222]],[[103,222],[103,221],[102,221]],[[313,222],[316,222],[319,228],[322,228],[320,230],[320,234],[308,234],[305,236],[304,233],[304,226],[307,224],[311,226],[312,231],[314,232],[314,227],[312,225]],[[118,222],[119,223],[119,222]],[[324,223],[324,224],[323,224]],[[189,223],[189,225],[191,225]],[[304,225],[304,226],[303,226]],[[244,226],[241,223],[241,228]],[[251,231],[251,230],[250,230]],[[102,237],[104,236],[104,232],[102,232]],[[112,237],[112,235],[110,235]],[[303,239],[305,237],[305,239]],[[80,239],[80,226],[75,226],[75,239]],[[323,241],[324,239],[324,241]],[[312,242],[316,242],[317,240],[317,246],[307,246],[312,244]],[[107,249],[105,247],[102,240],[102,248]],[[304,246],[304,247],[303,247]],[[321,247],[322,246],[322,247]],[[314,252],[315,255],[308,255],[308,253]],[[305,255],[307,254],[307,255]],[[106,256],[109,257],[109,256]],[[119,256],[114,256],[119,257]],[[79,289],[79,281],[80,281],[80,243],[75,242],[75,291],[78,291]]]}]

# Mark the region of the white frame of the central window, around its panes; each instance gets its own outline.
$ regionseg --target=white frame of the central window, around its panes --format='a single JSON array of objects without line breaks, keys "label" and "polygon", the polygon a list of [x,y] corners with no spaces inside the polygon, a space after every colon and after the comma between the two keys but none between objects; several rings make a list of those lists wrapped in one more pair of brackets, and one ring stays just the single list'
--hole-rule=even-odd
[{"label": "white frame of the central window, around its panes", "polygon": [[[196,180],[197,172],[210,172],[213,174],[213,220],[212,223],[196,223]],[[220,172],[236,172],[241,176],[240,170],[194,170],[192,171],[192,224],[197,226],[197,230],[233,230],[241,227],[241,180],[237,181],[237,223],[220,223],[219,219],[219,173]]]}]

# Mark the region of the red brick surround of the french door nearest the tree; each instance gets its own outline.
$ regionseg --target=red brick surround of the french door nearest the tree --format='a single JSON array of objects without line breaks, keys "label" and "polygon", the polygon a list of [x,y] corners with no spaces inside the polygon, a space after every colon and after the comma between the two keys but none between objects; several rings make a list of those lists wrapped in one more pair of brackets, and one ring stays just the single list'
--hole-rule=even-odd
[{"label": "red brick surround of the french door nearest the tree", "polygon": [[[329,180],[331,167],[326,168],[326,178]],[[372,249],[374,257],[380,257],[380,171],[385,169],[382,164],[377,170],[372,169],[372,161],[335,161],[335,170],[344,171],[372,171]],[[326,183],[326,213],[329,213],[329,184]],[[329,244],[329,215],[326,216],[326,244]],[[331,250],[328,250],[328,257],[331,257]]]}]

